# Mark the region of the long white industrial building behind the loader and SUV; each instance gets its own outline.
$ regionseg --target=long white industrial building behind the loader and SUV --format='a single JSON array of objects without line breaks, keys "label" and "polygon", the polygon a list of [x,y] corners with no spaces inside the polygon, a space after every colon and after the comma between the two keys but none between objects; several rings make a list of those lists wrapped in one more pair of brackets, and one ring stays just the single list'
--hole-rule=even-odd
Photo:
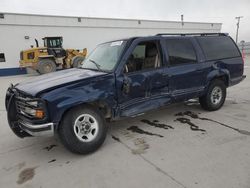
[{"label": "long white industrial building behind the loader and SUV", "polygon": [[62,36],[64,48],[87,48],[124,37],[155,35],[157,33],[186,33],[221,31],[221,23],[87,18],[0,13],[0,76],[20,74],[21,50],[42,46],[45,36]]}]

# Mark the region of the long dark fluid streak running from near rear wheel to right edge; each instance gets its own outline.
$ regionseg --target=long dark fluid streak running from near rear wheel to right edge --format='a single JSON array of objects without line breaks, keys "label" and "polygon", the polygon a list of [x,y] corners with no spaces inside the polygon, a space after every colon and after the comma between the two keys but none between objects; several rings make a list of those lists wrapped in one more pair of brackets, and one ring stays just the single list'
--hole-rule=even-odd
[{"label": "long dark fluid streak running from near rear wheel to right edge", "polygon": [[177,114],[175,114],[175,116],[189,116],[193,119],[200,119],[200,120],[205,120],[205,121],[210,121],[210,122],[213,122],[213,123],[217,123],[219,125],[222,125],[224,127],[227,127],[229,129],[232,129],[234,131],[237,131],[239,132],[240,134],[244,134],[244,135],[249,135],[250,136],[250,132],[249,131],[246,131],[246,130],[241,130],[241,129],[237,129],[235,127],[232,127],[230,125],[227,125],[225,123],[221,123],[219,121],[216,121],[216,120],[213,120],[213,119],[209,119],[209,118],[204,118],[204,117],[200,117],[198,114],[194,113],[194,112],[191,112],[191,111],[186,111],[186,112],[179,112]]}]

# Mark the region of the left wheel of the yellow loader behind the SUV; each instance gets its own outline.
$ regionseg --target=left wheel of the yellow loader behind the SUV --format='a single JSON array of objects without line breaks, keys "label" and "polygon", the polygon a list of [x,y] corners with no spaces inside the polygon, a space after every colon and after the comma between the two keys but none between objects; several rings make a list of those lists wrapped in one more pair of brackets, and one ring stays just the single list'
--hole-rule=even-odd
[{"label": "left wheel of the yellow loader behind the SUV", "polygon": [[41,59],[38,62],[37,70],[40,74],[47,74],[56,71],[56,64],[52,59]]}]

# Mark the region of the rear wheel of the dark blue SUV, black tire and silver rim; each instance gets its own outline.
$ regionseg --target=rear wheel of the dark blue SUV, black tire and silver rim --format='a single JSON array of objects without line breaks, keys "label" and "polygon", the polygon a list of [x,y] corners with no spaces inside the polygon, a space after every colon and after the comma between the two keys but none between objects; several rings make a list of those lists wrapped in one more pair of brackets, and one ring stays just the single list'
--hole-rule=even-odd
[{"label": "rear wheel of the dark blue SUV, black tire and silver rim", "polygon": [[[221,91],[221,97],[219,97],[219,91]],[[225,83],[222,80],[215,79],[210,83],[207,93],[199,98],[200,105],[203,109],[208,111],[218,110],[224,104],[226,95],[227,90]]]}]

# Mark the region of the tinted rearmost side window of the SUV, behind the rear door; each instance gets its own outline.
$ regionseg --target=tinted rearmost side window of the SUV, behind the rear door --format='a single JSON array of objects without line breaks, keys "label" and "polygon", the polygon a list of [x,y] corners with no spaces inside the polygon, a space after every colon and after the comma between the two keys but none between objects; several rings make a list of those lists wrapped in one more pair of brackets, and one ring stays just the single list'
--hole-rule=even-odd
[{"label": "tinted rearmost side window of the SUV, behind the rear door", "polygon": [[197,40],[208,61],[240,56],[238,48],[230,37],[197,37]]}]

